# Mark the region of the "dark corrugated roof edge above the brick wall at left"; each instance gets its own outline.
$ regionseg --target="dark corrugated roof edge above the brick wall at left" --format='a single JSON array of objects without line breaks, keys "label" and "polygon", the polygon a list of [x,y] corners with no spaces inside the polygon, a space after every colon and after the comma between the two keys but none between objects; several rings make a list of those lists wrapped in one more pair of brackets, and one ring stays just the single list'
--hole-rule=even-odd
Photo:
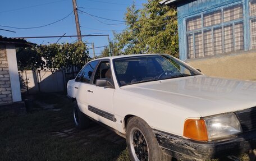
[{"label": "dark corrugated roof edge above the brick wall at left", "polygon": [[15,44],[16,47],[32,47],[36,44],[27,42],[25,39],[7,38],[0,35],[0,43]]}]

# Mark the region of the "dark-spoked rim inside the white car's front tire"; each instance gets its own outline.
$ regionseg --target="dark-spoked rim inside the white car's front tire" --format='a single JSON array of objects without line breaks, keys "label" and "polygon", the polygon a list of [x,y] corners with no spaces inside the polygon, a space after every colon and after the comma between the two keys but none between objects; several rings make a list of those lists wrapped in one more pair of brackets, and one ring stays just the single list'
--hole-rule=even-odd
[{"label": "dark-spoked rim inside the white car's front tire", "polygon": [[132,128],[130,135],[131,154],[135,160],[149,160],[148,143],[139,128]]}]

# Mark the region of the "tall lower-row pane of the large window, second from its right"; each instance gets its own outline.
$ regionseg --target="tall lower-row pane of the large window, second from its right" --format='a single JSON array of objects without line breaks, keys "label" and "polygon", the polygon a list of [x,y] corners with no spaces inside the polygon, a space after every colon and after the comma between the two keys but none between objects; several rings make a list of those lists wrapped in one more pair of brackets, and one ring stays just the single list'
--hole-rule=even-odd
[{"label": "tall lower-row pane of the large window, second from its right", "polygon": [[234,50],[232,25],[224,26],[224,43],[225,43],[225,53],[231,52]]}]

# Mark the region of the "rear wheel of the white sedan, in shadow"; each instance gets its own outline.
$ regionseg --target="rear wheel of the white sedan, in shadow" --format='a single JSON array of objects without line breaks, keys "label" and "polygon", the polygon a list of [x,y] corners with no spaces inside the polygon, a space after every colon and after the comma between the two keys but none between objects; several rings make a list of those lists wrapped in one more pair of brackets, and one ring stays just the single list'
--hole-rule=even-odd
[{"label": "rear wheel of the white sedan, in shadow", "polygon": [[77,102],[73,102],[73,118],[76,128],[83,130],[90,125],[91,120],[86,117],[86,115],[80,111]]}]

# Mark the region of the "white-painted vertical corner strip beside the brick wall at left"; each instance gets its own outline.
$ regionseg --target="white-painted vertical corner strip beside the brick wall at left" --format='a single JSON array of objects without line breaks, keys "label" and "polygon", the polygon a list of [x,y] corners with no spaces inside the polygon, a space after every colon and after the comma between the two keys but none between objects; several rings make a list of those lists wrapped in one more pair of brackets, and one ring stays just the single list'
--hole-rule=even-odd
[{"label": "white-painted vertical corner strip beside the brick wall at left", "polygon": [[20,79],[18,74],[15,45],[6,44],[6,53],[7,53],[11,88],[12,88],[12,102],[20,102],[21,101]]}]

